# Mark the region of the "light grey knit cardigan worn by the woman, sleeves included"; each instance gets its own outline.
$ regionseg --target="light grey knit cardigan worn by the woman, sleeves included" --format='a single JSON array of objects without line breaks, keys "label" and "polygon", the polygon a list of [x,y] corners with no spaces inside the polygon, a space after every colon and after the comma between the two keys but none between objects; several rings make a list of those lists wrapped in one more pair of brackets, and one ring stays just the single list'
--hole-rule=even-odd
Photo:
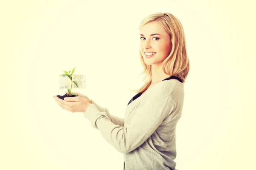
[{"label": "light grey knit cardigan worn by the woman, sleeves included", "polygon": [[111,115],[93,100],[84,117],[124,154],[125,170],[175,170],[175,130],[182,114],[183,82],[172,76],[141,94],[128,103],[125,119]]}]

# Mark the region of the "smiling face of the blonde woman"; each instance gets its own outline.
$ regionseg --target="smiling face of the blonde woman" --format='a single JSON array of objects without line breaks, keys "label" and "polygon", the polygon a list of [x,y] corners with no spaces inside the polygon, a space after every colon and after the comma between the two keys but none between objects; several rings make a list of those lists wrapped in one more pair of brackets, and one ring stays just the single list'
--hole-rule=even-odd
[{"label": "smiling face of the blonde woman", "polygon": [[172,44],[169,34],[159,22],[153,21],[141,28],[140,52],[145,64],[162,66],[163,60],[166,59],[171,50]]}]

